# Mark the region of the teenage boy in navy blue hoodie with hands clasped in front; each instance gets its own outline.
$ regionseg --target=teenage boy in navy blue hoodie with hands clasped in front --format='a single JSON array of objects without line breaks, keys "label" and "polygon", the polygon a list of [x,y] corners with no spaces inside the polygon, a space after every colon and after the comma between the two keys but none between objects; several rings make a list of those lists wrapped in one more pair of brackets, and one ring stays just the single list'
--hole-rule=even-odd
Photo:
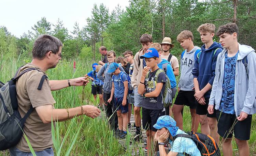
[{"label": "teenage boy in navy blue hoodie with hands clasped in front", "polygon": [[[194,69],[192,70],[195,87],[196,112],[199,115],[201,133],[211,135],[216,143],[219,143],[217,133],[216,111],[209,114],[207,111],[212,84],[215,77],[215,66],[218,54],[222,51],[221,44],[213,42],[215,25],[205,23],[198,27],[201,40],[204,45],[201,52],[197,54]],[[206,118],[207,117],[207,118]]]}]

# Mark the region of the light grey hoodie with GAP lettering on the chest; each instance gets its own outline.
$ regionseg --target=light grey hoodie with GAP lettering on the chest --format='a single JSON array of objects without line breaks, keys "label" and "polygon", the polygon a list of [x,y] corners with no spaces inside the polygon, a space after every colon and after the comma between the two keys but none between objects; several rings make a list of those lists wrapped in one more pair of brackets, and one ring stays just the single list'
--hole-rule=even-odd
[{"label": "light grey hoodie with GAP lettering on the chest", "polygon": [[195,63],[195,52],[198,49],[201,48],[195,46],[189,52],[186,49],[183,57],[181,58],[181,77],[178,84],[178,87],[181,90],[192,91],[192,88],[194,87],[192,69],[194,68]]}]

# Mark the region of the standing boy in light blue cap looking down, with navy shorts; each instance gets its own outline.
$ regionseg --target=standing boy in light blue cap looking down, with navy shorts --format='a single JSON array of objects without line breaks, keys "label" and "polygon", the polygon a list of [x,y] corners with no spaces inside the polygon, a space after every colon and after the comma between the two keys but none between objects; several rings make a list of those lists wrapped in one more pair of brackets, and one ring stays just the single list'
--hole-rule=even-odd
[{"label": "standing boy in light blue cap looking down, with navy shorts", "polygon": [[120,71],[117,63],[113,62],[109,65],[108,73],[113,73],[111,96],[108,102],[111,102],[114,96],[114,106],[117,110],[119,133],[116,137],[123,139],[127,135],[128,122],[128,79],[125,72]]}]

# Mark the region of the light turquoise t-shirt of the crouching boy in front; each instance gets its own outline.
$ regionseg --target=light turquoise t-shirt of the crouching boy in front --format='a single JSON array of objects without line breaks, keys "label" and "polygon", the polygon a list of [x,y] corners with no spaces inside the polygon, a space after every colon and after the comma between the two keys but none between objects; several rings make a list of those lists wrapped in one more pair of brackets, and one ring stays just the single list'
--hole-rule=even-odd
[{"label": "light turquoise t-shirt of the crouching boy in front", "polygon": [[[187,134],[181,129],[178,129],[177,134]],[[190,138],[177,137],[174,142],[169,140],[171,145],[171,151],[177,152],[177,156],[184,156],[184,152],[191,156],[201,156],[200,151],[197,148],[196,143]]]}]

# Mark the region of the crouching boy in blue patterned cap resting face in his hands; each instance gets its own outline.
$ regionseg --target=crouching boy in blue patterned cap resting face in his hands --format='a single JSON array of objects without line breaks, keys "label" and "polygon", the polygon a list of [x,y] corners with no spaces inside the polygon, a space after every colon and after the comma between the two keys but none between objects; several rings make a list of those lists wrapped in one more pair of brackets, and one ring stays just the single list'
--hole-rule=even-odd
[{"label": "crouching boy in blue patterned cap resting face in his hands", "polygon": [[[154,140],[158,140],[160,156],[167,156],[167,153],[171,156],[183,155],[183,153],[187,153],[191,156],[201,156],[201,153],[198,150],[196,143],[192,139],[177,137],[174,141],[172,141],[173,137],[177,134],[186,134],[184,131],[179,129],[179,127],[176,126],[176,121],[172,117],[159,117],[153,127],[158,129]],[[172,148],[168,151],[166,151],[164,147],[164,142],[167,139],[172,146]]]}]

